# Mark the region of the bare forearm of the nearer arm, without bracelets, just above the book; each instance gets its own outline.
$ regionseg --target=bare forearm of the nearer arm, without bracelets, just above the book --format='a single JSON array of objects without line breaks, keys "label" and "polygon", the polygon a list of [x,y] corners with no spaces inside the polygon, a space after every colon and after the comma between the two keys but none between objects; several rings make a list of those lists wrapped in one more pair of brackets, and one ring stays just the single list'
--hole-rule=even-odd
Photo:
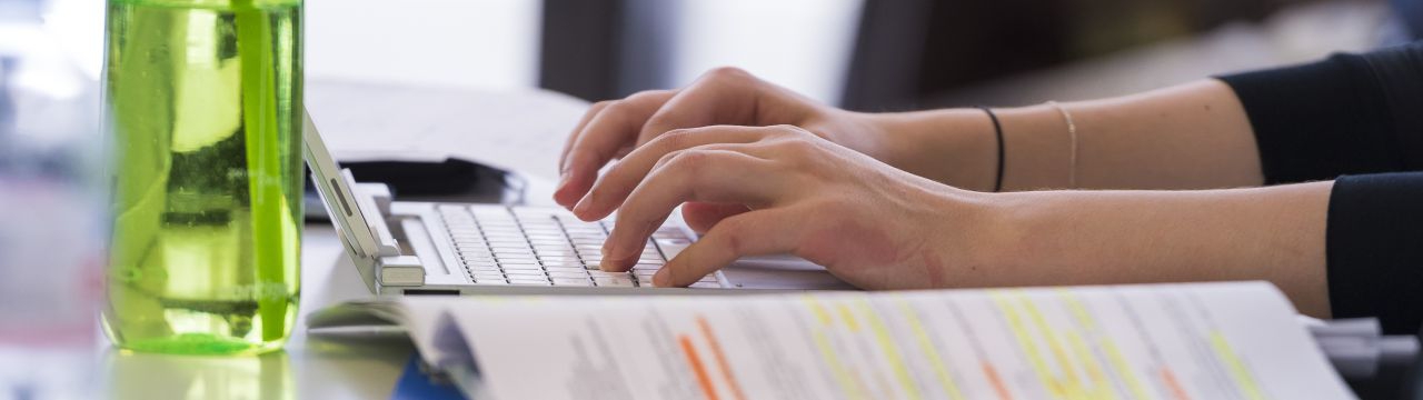
[{"label": "bare forearm of the nearer arm, without bracelets, just above the book", "polygon": [[1215,191],[985,195],[995,215],[965,285],[1264,279],[1329,316],[1325,221],[1333,182]]}]

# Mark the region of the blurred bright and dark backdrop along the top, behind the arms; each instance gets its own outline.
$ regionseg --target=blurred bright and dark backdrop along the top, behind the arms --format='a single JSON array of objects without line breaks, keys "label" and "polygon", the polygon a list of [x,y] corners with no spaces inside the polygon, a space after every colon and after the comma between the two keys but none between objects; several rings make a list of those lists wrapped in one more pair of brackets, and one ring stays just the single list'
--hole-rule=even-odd
[{"label": "blurred bright and dark backdrop along the top, behind the arms", "polygon": [[[50,0],[44,13],[94,78],[102,1]],[[307,0],[306,61],[319,78],[545,87],[585,100],[737,65],[857,110],[1013,105],[1406,41],[1420,30],[1419,3]]]}]

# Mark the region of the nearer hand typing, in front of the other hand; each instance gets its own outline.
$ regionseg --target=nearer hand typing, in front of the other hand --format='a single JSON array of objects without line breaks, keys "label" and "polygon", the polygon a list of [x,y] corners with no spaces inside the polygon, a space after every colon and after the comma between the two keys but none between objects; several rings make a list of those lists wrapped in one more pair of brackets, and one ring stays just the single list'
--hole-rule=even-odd
[{"label": "nearer hand typing, in front of the other hand", "polygon": [[[618,211],[605,270],[628,270],[683,202],[740,206],[653,276],[684,286],[737,258],[794,253],[867,289],[945,286],[988,226],[975,199],[790,127],[669,131],[628,154],[573,208],[585,221]],[[982,204],[982,202],[979,202]]]}]

